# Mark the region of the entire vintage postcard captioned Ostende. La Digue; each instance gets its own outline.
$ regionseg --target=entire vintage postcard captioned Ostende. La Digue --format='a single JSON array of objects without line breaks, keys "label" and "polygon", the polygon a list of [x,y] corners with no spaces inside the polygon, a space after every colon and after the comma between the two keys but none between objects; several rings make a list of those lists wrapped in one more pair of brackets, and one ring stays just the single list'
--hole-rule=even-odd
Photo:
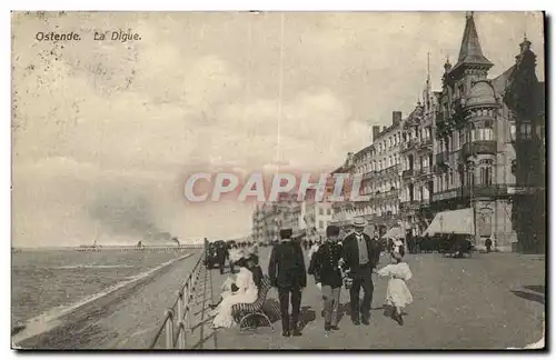
[{"label": "entire vintage postcard captioned Ostende. La Digue", "polygon": [[12,20],[13,349],[544,349],[543,12]]}]

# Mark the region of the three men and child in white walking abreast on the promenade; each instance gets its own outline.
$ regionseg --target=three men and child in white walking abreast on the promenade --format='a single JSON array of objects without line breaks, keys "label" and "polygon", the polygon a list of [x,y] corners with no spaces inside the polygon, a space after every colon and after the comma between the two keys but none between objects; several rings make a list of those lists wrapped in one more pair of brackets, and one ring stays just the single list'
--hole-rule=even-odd
[{"label": "three men and child in white walking abreast on the promenade", "polygon": [[[390,264],[377,270],[383,247],[377,237],[371,239],[364,232],[366,222],[355,219],[354,232],[340,241],[340,228],[328,226],[326,240],[309,257],[306,272],[302,249],[291,240],[291,229],[280,231],[280,243],[271,252],[268,274],[278,289],[282,322],[282,336],[301,336],[299,313],[302,289],[307,287],[307,276],[315,277],[324,300],[325,331],[338,330],[338,309],[341,287],[349,290],[350,316],[354,324],[370,323],[374,283],[373,273],[389,277],[386,302],[393,311],[393,319],[403,324],[401,309],[411,303],[413,298],[405,281],[411,272],[403,261],[404,247],[396,242],[389,249]],[[363,300],[360,293],[363,290]],[[289,308],[291,307],[291,321]]]}]

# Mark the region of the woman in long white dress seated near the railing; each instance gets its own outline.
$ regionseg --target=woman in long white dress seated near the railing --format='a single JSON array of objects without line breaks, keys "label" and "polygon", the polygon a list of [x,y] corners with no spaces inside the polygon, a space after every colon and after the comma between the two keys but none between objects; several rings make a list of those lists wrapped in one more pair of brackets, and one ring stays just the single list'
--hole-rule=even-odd
[{"label": "woman in long white dress seated near the railing", "polygon": [[247,260],[241,258],[237,261],[237,264],[239,266],[239,272],[231,286],[231,293],[222,296],[222,301],[212,310],[212,314],[215,314],[214,328],[231,328],[234,326],[231,307],[236,303],[252,303],[257,300],[258,289],[251,271],[247,269]]}]

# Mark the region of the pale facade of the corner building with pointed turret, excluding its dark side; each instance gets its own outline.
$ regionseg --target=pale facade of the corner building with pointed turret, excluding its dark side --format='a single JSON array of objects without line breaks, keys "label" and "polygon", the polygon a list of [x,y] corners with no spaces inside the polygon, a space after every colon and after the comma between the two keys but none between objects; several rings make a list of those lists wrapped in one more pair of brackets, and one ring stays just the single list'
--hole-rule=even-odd
[{"label": "pale facade of the corner building with pointed turret, excluding its dark side", "polygon": [[[445,64],[435,123],[436,179],[431,206],[434,211],[473,208],[475,244],[481,248],[490,238],[498,250],[515,251],[519,248],[516,231],[519,209],[512,190],[519,182],[516,153],[527,154],[524,147],[533,149],[533,141],[524,144],[523,138],[527,136],[522,133],[522,148],[516,148],[515,112],[504,100],[516,66],[488,79],[492,67],[481,51],[473,13],[468,13],[458,61],[454,67],[448,61]],[[533,127],[522,129],[533,133],[528,130]],[[535,159],[539,158],[540,154]],[[538,170],[543,166],[534,167]],[[540,177],[520,179],[522,187],[527,188],[535,179]],[[530,230],[529,236],[533,237]]]}]

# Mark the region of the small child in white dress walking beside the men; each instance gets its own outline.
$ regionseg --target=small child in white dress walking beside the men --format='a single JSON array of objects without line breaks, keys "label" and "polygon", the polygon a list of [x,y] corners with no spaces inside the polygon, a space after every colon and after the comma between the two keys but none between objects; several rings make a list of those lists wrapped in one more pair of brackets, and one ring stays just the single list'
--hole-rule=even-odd
[{"label": "small child in white dress walking beside the men", "polygon": [[413,277],[411,270],[406,262],[403,262],[399,252],[393,252],[391,263],[378,270],[377,273],[381,277],[390,277],[386,290],[386,303],[396,308],[393,319],[403,326],[401,310],[414,301],[411,292],[406,286],[406,281]]}]

